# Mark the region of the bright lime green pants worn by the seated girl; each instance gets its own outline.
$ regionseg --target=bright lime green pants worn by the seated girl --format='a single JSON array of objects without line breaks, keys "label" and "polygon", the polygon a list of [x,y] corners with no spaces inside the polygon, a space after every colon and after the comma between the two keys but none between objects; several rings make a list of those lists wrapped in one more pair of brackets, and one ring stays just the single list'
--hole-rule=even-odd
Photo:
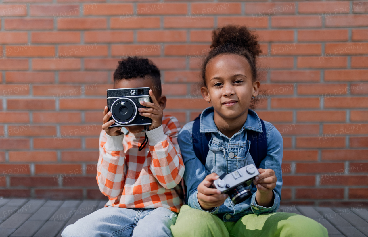
[{"label": "bright lime green pants worn by the seated girl", "polygon": [[237,222],[223,222],[188,205],[180,208],[171,231],[174,237],[328,237],[320,223],[294,213],[248,214]]}]

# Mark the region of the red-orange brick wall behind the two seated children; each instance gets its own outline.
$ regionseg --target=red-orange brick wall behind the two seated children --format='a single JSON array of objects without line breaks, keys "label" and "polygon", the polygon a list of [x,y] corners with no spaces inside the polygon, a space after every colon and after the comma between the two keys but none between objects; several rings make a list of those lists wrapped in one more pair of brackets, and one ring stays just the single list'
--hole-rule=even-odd
[{"label": "red-orange brick wall behind the two seated children", "polygon": [[211,30],[255,28],[267,68],[256,110],[284,139],[284,203],[368,198],[368,1],[0,0],[0,195],[101,198],[98,135],[117,61],[152,59],[166,113],[195,90]]}]

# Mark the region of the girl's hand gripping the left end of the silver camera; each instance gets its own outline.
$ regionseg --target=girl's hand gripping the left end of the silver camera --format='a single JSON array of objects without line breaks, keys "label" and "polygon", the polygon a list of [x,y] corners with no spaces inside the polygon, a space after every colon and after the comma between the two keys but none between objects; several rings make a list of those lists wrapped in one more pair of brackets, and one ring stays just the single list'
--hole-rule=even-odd
[{"label": "girl's hand gripping the left end of the silver camera", "polygon": [[229,197],[227,194],[221,194],[217,188],[212,188],[213,181],[219,177],[216,173],[211,173],[197,187],[198,202],[204,210],[221,206]]}]

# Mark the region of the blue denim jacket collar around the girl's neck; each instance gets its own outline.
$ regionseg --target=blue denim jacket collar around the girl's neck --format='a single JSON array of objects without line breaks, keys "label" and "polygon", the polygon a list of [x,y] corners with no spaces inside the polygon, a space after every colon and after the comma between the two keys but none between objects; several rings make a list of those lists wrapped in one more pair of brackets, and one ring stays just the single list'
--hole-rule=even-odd
[{"label": "blue denim jacket collar around the girl's neck", "polygon": [[[199,120],[199,132],[201,133],[210,133],[210,132],[218,132],[215,121],[213,120],[213,115],[215,112],[213,111],[213,106],[206,108],[202,113]],[[256,132],[262,133],[262,124],[256,112],[252,109],[248,109],[247,120],[243,125],[243,129],[254,130]]]}]

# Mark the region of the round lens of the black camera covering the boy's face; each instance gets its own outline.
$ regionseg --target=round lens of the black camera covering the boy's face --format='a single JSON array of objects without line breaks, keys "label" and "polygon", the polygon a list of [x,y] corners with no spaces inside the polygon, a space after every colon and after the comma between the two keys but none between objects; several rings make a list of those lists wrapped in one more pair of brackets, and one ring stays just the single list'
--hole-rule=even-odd
[{"label": "round lens of the black camera covering the boy's face", "polygon": [[111,105],[111,115],[118,123],[130,123],[137,115],[137,106],[130,98],[119,98]]}]

